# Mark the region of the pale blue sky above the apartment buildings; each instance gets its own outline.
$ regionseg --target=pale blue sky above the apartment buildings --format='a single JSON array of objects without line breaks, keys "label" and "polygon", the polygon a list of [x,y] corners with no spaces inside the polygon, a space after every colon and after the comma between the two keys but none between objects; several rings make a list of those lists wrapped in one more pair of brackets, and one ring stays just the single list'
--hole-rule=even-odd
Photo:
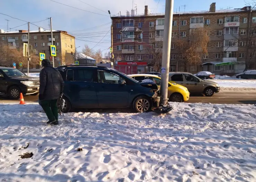
[{"label": "pale blue sky above the apartment buildings", "polygon": [[[67,7],[51,0],[2,0],[0,13],[30,22],[37,22],[52,17],[54,30],[65,30],[70,34],[74,34],[78,39],[81,39],[76,41],[76,47],[81,46],[77,50],[81,50],[84,44],[88,44],[90,48],[93,48],[103,38],[93,49],[95,51],[101,49],[103,52],[107,52],[110,47],[109,30],[111,22],[108,10],[110,10],[111,14],[118,14],[119,11],[125,14],[126,10],[130,11],[132,8],[132,0],[54,1],[82,10]],[[179,11],[179,7],[180,11],[184,11],[183,5],[185,5],[185,11],[209,10],[212,2],[216,2],[217,10],[229,7],[232,9],[242,8],[246,4],[244,0],[174,0],[174,11]],[[134,0],[134,4],[137,4],[138,14],[144,13],[145,4],[148,5],[149,10],[152,12],[164,12],[165,9],[165,0]],[[7,29],[7,21],[5,19],[10,20],[9,28],[26,23],[0,14],[0,29]],[[48,20],[34,24],[49,29]],[[16,29],[27,30],[27,26],[20,26],[11,31],[15,31]],[[31,24],[30,29],[38,30],[38,27]]]}]

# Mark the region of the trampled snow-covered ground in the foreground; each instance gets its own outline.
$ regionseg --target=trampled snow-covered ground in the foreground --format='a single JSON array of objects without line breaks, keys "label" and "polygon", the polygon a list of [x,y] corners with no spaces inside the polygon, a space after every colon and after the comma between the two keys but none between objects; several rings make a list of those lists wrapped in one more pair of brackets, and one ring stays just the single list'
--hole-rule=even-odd
[{"label": "trampled snow-covered ground in the foreground", "polygon": [[1,104],[0,181],[256,181],[256,106],[172,105],[52,126],[37,104]]}]

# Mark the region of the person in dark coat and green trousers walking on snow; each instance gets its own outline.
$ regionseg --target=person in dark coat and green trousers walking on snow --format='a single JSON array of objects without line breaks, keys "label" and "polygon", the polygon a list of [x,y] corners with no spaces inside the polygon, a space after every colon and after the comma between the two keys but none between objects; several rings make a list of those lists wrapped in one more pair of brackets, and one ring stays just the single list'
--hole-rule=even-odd
[{"label": "person in dark coat and green trousers walking on snow", "polygon": [[64,90],[64,81],[61,73],[52,67],[48,59],[42,60],[43,69],[40,71],[39,79],[39,104],[45,111],[47,124],[58,124],[57,101]]}]

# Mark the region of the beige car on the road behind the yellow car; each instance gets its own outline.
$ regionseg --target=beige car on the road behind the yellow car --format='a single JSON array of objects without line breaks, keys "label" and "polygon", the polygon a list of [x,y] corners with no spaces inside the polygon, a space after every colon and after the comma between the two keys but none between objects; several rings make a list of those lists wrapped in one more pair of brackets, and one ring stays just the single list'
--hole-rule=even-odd
[{"label": "beige car on the road behind the yellow car", "polygon": [[169,82],[177,83],[188,88],[190,93],[203,93],[207,97],[211,97],[214,92],[218,93],[220,91],[218,83],[202,80],[187,72],[169,73]]}]

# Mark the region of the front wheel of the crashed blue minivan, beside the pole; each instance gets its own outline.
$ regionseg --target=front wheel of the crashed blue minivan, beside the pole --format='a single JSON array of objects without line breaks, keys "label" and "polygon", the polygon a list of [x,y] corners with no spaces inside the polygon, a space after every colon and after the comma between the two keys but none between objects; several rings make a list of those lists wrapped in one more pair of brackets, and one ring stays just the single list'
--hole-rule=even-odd
[{"label": "front wheel of the crashed blue minivan, beside the pole", "polygon": [[152,101],[149,97],[139,96],[134,99],[132,107],[136,112],[149,112],[152,109]]}]

